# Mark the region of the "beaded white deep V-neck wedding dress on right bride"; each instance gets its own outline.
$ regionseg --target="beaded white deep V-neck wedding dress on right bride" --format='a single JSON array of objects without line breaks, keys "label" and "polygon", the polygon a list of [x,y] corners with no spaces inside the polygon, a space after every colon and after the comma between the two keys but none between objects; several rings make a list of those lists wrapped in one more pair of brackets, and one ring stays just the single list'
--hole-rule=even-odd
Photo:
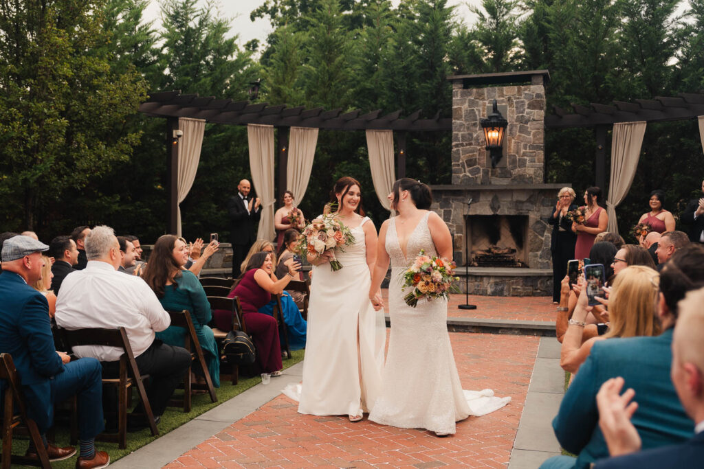
[{"label": "beaded white deep V-neck wedding dress on right bride", "polygon": [[369,420],[400,428],[454,433],[456,421],[500,409],[510,397],[494,397],[491,390],[462,390],[447,332],[446,300],[419,300],[415,308],[403,301],[403,271],[421,249],[426,255],[437,255],[427,224],[429,214],[408,238],[408,257],[398,243],[396,219],[389,220],[384,243],[391,259],[391,335],[382,391]]}]

